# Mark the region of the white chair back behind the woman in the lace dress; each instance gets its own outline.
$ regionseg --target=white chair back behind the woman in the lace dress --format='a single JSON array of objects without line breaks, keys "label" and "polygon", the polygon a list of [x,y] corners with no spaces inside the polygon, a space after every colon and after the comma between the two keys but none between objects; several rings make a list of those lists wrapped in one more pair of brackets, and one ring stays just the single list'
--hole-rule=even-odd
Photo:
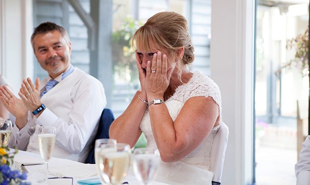
[{"label": "white chair back behind the woman in the lace dress", "polygon": [[220,185],[221,182],[228,134],[228,126],[225,123],[221,123],[211,148],[210,163],[214,173],[212,185]]}]

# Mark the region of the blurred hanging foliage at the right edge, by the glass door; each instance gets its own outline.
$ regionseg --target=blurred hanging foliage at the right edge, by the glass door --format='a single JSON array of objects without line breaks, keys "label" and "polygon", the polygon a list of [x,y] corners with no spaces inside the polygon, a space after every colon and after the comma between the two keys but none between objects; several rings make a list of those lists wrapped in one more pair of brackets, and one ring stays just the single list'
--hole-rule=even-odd
[{"label": "blurred hanging foliage at the right edge, by the glass door", "polygon": [[282,65],[280,69],[276,71],[276,75],[278,76],[285,68],[291,68],[292,65],[300,70],[303,77],[308,75],[309,74],[308,45],[309,45],[309,27],[303,34],[299,34],[296,36],[296,38],[287,40],[286,49],[287,50],[290,50],[292,48],[296,49],[295,59]]}]

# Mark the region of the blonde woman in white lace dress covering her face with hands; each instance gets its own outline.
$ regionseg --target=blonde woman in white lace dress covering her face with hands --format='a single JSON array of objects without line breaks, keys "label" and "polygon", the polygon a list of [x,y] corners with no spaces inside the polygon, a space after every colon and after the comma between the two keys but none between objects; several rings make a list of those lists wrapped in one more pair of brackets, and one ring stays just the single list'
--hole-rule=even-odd
[{"label": "blonde woman in white lace dress covering her face with hands", "polygon": [[[110,137],[135,145],[144,132],[161,157],[156,181],[211,185],[210,152],[221,121],[217,84],[187,65],[194,48],[187,21],[160,12],[134,34],[141,88],[110,127]],[[134,42],[134,41],[133,41]]]}]

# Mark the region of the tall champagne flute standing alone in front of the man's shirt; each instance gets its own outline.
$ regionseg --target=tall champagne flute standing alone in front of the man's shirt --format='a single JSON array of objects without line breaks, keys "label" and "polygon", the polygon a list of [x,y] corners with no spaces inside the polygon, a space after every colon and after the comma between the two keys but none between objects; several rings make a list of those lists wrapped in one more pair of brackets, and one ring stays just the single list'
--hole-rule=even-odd
[{"label": "tall champagne flute standing alone in front of the man's shirt", "polygon": [[56,128],[55,126],[40,126],[39,127],[39,134],[38,134],[38,141],[39,141],[39,150],[41,157],[45,163],[45,175],[44,179],[38,180],[38,183],[46,183],[48,179],[48,161],[52,157],[52,153],[55,147],[56,141]]}]

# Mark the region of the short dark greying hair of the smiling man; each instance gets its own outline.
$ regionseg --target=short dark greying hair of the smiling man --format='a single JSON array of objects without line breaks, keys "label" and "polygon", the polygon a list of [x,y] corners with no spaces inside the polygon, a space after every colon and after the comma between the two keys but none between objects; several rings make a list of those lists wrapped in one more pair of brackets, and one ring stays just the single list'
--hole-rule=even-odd
[{"label": "short dark greying hair of the smiling man", "polygon": [[52,22],[44,22],[44,23],[41,23],[36,28],[34,28],[33,33],[31,35],[31,45],[32,45],[33,51],[34,51],[34,47],[33,47],[34,37],[38,34],[47,33],[47,32],[51,32],[51,31],[59,31],[62,34],[62,37],[65,39],[65,41],[67,43],[70,42],[68,32],[62,26],[59,26],[59,25],[52,23]]}]

